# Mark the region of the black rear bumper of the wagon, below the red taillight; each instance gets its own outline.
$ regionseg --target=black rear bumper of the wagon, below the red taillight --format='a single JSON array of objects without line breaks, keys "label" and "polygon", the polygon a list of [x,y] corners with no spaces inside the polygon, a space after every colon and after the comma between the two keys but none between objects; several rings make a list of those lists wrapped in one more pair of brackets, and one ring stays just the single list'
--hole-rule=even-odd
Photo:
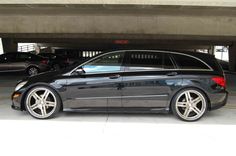
[{"label": "black rear bumper of the wagon, below the red taillight", "polygon": [[228,100],[228,92],[227,91],[224,94],[220,94],[220,95],[216,94],[216,96],[217,97],[215,97],[214,99],[219,99],[220,98],[220,100],[218,100],[217,102],[212,100],[214,102],[211,103],[210,110],[219,109],[219,108],[225,106],[226,103],[227,103],[227,100]]}]

